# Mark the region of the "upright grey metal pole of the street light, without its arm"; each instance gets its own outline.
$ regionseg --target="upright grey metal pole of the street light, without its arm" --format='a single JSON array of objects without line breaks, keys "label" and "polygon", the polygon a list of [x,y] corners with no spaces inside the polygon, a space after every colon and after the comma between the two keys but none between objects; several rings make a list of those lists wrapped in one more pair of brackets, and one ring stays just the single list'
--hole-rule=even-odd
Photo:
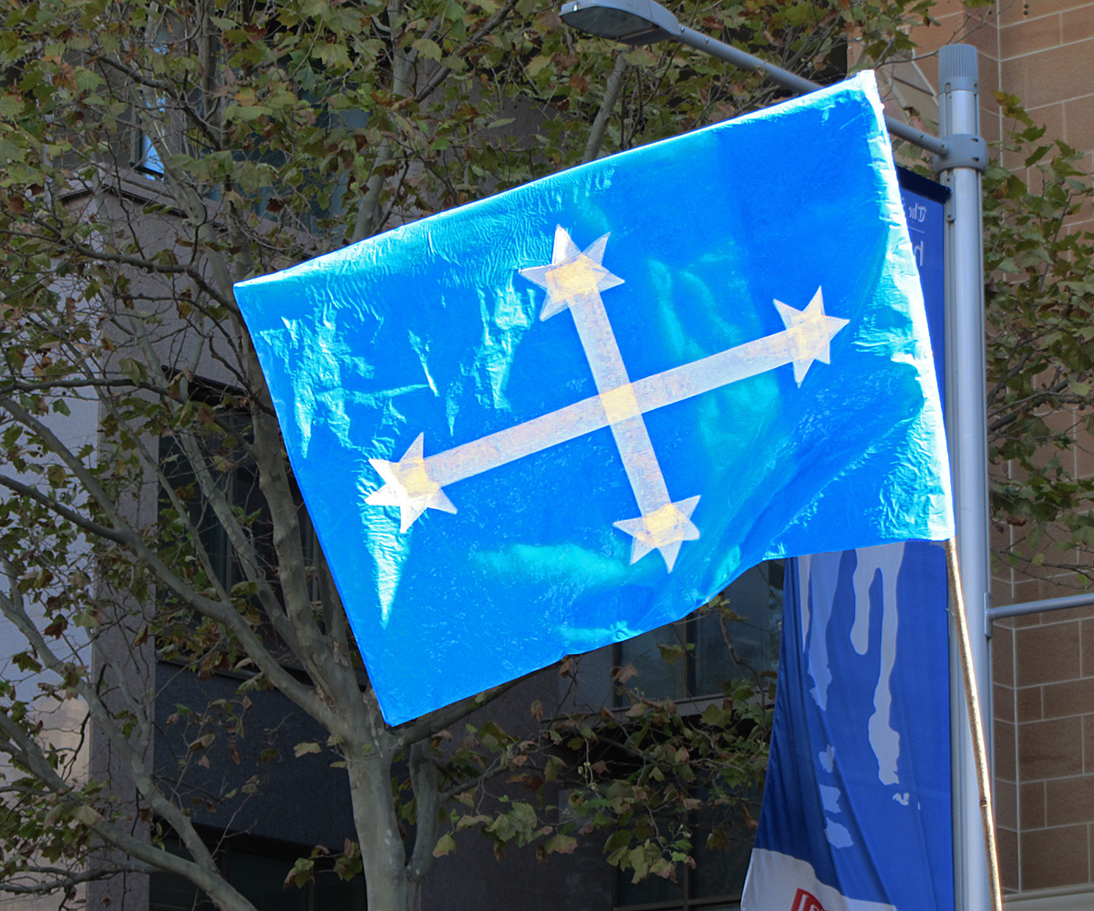
[{"label": "upright grey metal pole of the street light, without its arm", "polygon": [[[939,55],[942,140],[979,143],[976,48],[951,45]],[[984,258],[980,171],[971,163],[936,164],[950,186],[946,212],[946,424],[957,519],[962,592],[968,610],[980,704],[990,725],[991,680],[986,631],[989,595],[987,406],[984,375]],[[956,643],[951,679],[959,681]],[[954,874],[958,911],[991,907],[990,874],[969,720],[959,684],[951,685],[953,714]],[[989,739],[990,743],[990,739]]]}]

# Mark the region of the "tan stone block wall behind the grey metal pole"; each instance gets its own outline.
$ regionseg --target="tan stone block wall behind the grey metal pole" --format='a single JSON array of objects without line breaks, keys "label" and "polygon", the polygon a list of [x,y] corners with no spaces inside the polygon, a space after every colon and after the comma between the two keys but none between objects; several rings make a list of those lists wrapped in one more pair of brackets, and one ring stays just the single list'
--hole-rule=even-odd
[{"label": "tan stone block wall behind the grey metal pole", "polygon": [[[936,117],[934,51],[951,43],[980,51],[982,133],[1006,125],[993,93],[1016,95],[1035,122],[1085,152],[1094,170],[1094,2],[997,0],[976,10],[959,0],[935,5],[938,24],[919,28],[917,59],[894,73],[893,100],[912,100],[923,119]],[[891,102],[891,105],[893,102]],[[934,105],[932,107],[932,104]],[[1019,155],[1004,163],[1021,171]],[[1089,209],[1075,227],[1094,227]],[[1069,416],[1059,416],[1069,422]],[[1063,457],[1079,475],[1094,475],[1090,441],[1079,437]],[[996,529],[994,545],[1020,542],[1021,528]],[[1023,574],[997,565],[998,605],[1074,594],[1073,561]],[[1032,615],[997,624],[992,643],[997,830],[1003,885],[1010,894],[1091,888],[1094,907],[1094,608]]]}]

